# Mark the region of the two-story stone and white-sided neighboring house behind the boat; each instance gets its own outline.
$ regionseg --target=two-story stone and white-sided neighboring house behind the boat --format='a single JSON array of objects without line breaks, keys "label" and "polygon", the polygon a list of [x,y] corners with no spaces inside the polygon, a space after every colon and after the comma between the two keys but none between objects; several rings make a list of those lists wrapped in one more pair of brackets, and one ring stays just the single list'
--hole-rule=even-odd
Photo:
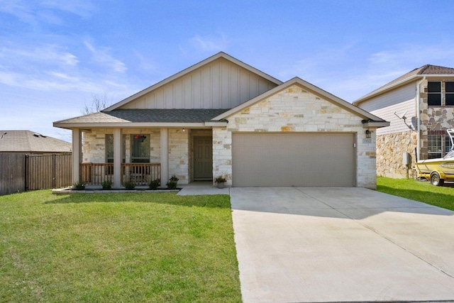
[{"label": "two-story stone and white-sided neighboring house behind the boat", "polygon": [[390,122],[377,129],[377,174],[414,177],[417,160],[441,158],[451,148],[454,68],[424,65],[353,102]]}]

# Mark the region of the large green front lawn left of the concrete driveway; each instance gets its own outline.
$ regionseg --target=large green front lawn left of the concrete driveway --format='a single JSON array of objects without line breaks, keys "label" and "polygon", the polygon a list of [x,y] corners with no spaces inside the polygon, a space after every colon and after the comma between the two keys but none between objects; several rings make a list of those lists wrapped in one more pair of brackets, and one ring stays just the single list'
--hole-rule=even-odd
[{"label": "large green front lawn left of the concrete driveway", "polygon": [[0,197],[0,302],[240,302],[230,200]]}]

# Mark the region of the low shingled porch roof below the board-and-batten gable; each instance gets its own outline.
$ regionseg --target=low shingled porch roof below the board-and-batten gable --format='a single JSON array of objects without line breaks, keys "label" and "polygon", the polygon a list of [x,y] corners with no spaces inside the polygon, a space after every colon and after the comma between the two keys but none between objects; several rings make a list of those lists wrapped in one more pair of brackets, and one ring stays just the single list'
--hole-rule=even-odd
[{"label": "low shingled porch roof below the board-and-batten gable", "polygon": [[[121,123],[204,123],[228,109],[116,109],[57,121],[55,126],[116,126]],[[143,126],[143,125],[142,125]]]}]

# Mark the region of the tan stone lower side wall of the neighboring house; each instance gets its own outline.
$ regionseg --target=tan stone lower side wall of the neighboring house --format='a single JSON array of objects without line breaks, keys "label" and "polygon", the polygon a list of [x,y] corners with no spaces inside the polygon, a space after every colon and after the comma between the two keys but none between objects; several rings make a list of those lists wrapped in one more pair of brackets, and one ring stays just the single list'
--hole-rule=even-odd
[{"label": "tan stone lower side wall of the neighboring house", "polygon": [[[377,175],[392,178],[415,177],[416,140],[416,131],[377,136]],[[409,166],[402,164],[404,153],[410,154]]]}]

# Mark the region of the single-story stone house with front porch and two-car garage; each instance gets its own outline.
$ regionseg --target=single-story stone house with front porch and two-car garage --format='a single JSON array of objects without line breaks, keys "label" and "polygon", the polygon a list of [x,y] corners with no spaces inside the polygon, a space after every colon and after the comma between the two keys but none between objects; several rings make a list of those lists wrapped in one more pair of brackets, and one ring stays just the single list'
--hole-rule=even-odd
[{"label": "single-story stone house with front porch and two-car garage", "polygon": [[[233,186],[375,188],[375,128],[389,123],[297,77],[282,83],[218,53],[72,130],[74,182],[172,175]],[[372,132],[372,138],[367,133]]]}]

